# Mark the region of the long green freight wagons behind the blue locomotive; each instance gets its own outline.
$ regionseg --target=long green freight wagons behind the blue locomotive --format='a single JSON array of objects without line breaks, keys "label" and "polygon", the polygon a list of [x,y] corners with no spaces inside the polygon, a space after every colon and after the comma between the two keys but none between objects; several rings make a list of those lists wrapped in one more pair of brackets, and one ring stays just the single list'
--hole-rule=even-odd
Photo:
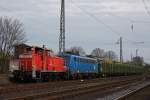
[{"label": "long green freight wagons behind the blue locomotive", "polygon": [[144,73],[142,66],[134,64],[122,64],[108,60],[98,60],[97,63],[100,76],[124,76]]}]

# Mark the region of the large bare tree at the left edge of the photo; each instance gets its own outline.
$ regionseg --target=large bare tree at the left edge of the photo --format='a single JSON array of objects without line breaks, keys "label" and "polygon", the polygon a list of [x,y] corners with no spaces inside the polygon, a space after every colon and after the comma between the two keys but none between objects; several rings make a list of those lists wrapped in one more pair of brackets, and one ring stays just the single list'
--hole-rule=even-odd
[{"label": "large bare tree at the left edge of the photo", "polygon": [[13,46],[25,42],[23,24],[17,19],[0,17],[0,54],[9,56]]}]

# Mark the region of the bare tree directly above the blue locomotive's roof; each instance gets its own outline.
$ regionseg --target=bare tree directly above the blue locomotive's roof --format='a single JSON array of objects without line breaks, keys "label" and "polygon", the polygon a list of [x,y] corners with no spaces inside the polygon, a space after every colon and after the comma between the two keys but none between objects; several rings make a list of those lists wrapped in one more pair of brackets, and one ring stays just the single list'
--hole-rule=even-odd
[{"label": "bare tree directly above the blue locomotive's roof", "polygon": [[85,56],[86,54],[82,47],[77,47],[77,46],[71,47],[69,50],[66,51],[66,53],[80,55],[80,56]]}]

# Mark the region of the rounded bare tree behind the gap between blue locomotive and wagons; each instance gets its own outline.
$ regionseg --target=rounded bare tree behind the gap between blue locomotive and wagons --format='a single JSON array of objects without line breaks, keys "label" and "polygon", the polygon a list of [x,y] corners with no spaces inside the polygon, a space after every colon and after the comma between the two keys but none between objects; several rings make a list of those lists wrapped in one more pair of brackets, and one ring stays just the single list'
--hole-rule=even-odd
[{"label": "rounded bare tree behind the gap between blue locomotive and wagons", "polygon": [[92,55],[93,57],[103,58],[104,55],[105,55],[105,52],[104,52],[103,49],[95,48],[95,49],[92,51],[91,55]]}]

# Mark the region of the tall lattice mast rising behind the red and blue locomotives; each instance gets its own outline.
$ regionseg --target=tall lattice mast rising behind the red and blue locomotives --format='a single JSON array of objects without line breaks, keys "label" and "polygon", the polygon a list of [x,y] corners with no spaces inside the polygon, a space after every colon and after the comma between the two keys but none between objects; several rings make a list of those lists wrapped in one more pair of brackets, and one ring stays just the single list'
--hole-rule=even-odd
[{"label": "tall lattice mast rising behind the red and blue locomotives", "polygon": [[65,52],[65,0],[61,0],[59,53]]}]

